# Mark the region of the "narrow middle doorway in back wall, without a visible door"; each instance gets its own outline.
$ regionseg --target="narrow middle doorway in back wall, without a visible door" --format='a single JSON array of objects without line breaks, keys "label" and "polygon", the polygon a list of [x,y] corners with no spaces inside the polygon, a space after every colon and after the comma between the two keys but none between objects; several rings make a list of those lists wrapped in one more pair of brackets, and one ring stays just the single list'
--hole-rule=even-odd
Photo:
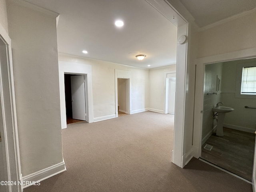
[{"label": "narrow middle doorway in back wall, without a visible door", "polygon": [[129,114],[129,90],[130,79],[118,78],[117,90],[118,90],[118,116]]}]

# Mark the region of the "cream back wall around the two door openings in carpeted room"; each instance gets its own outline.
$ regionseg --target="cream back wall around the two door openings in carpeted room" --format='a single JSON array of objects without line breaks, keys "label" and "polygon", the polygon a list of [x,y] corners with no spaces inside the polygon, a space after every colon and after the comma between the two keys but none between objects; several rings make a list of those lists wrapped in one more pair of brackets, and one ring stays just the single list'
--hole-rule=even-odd
[{"label": "cream back wall around the two door openings in carpeted room", "polygon": [[59,54],[59,61],[92,66],[92,94],[94,119],[115,115],[115,69],[128,70],[131,78],[131,112],[143,111],[149,106],[149,71],[111,62]]}]

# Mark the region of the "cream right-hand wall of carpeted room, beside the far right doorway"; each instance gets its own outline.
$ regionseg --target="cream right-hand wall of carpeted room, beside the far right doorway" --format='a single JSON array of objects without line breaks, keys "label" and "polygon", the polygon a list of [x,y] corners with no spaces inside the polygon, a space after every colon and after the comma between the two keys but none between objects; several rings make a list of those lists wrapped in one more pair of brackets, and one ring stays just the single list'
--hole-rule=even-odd
[{"label": "cream right-hand wall of carpeted room, beside the far right doorway", "polygon": [[166,71],[176,70],[176,65],[171,65],[163,68],[149,70],[149,108],[152,111],[164,113],[164,94],[165,74]]}]

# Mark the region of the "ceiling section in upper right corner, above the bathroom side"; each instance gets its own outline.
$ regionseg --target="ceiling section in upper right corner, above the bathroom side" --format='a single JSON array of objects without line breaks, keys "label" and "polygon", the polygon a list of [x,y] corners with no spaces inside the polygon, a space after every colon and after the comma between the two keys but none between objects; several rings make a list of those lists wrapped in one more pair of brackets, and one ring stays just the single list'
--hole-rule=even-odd
[{"label": "ceiling section in upper right corner, above the bathroom side", "polygon": [[180,0],[199,27],[256,7],[256,0]]}]

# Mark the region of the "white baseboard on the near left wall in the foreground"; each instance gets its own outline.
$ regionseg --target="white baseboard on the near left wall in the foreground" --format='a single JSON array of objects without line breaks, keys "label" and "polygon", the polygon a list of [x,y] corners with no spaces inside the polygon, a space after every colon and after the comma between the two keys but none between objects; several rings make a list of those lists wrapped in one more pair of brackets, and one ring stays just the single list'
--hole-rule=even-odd
[{"label": "white baseboard on the near left wall in the foreground", "polygon": [[[64,172],[64,171],[66,171],[66,166],[63,161],[56,165],[50,166],[50,167],[40,170],[38,172],[35,172],[35,173],[32,173],[32,174],[22,177],[22,182],[23,183],[32,183],[32,182],[42,181],[42,180],[48,179],[48,178],[50,178],[54,175],[57,175],[61,172]],[[30,185],[29,184],[23,185],[22,189],[24,189],[28,186],[30,186]]]}]

